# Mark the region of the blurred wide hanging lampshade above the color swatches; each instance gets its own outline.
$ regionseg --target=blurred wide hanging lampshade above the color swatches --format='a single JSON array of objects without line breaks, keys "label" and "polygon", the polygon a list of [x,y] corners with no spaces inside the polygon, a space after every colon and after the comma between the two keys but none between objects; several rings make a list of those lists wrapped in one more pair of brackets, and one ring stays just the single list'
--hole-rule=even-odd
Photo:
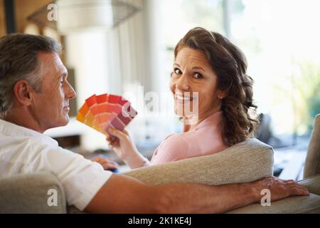
[{"label": "blurred wide hanging lampshade above the color swatches", "polygon": [[53,4],[56,6],[57,21],[48,20],[48,5],[28,16],[28,21],[55,28],[59,33],[71,33],[92,28],[113,28],[140,10],[139,6],[122,0],[56,0]]}]

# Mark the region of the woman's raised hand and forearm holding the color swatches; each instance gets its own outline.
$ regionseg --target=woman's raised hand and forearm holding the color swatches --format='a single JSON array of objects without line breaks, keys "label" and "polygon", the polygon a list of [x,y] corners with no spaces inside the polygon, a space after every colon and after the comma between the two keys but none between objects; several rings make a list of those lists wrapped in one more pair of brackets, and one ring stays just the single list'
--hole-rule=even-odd
[{"label": "woman's raised hand and forearm holding the color swatches", "polygon": [[120,131],[110,128],[109,131],[110,135],[107,137],[109,146],[129,167],[134,169],[149,163],[149,161],[139,153],[127,130]]}]

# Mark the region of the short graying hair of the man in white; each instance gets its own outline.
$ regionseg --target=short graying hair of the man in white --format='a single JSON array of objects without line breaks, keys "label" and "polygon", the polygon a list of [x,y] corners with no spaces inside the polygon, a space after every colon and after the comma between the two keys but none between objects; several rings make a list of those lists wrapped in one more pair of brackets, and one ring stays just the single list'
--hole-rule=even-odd
[{"label": "short graying hair of the man in white", "polygon": [[26,80],[33,90],[41,92],[41,63],[38,53],[60,54],[62,46],[47,36],[10,34],[0,38],[0,118],[4,118],[14,105],[14,85]]}]

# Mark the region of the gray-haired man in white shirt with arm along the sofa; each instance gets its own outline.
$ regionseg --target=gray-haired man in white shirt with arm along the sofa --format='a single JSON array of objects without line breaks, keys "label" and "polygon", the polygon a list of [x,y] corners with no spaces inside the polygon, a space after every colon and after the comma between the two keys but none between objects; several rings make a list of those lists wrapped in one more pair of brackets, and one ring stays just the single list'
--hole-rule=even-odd
[{"label": "gray-haired man in white shirt with arm along the sofa", "polygon": [[0,39],[0,175],[53,172],[68,204],[86,212],[214,213],[260,202],[265,188],[272,200],[309,194],[293,181],[273,177],[216,187],[145,185],[64,150],[43,135],[68,124],[69,100],[75,98],[60,49],[60,43],[44,36],[12,34]]}]

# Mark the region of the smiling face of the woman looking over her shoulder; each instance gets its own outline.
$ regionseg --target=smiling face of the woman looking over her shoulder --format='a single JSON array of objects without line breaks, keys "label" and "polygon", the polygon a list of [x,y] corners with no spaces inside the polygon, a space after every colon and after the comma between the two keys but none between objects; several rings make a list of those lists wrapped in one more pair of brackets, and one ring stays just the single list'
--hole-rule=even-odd
[{"label": "smiling face of the woman looking over her shoulder", "polygon": [[193,115],[200,116],[209,113],[220,104],[217,76],[206,56],[196,49],[184,47],[178,51],[170,89],[174,95],[175,113],[180,116],[186,116],[186,108],[183,107],[188,105],[191,109],[187,110],[194,110],[193,104],[198,103],[198,113]]}]

